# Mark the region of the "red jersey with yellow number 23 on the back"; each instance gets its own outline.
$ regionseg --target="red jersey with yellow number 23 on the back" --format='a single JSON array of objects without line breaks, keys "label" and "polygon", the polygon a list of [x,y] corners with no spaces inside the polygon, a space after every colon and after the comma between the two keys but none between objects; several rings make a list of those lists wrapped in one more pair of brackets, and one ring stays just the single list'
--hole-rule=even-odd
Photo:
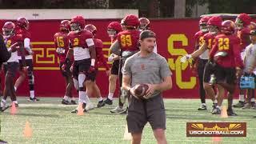
[{"label": "red jersey with yellow number 23 on the back", "polygon": [[215,42],[213,49],[210,51],[210,58],[214,58],[214,54],[223,51],[226,52],[226,56],[218,58],[216,62],[218,65],[229,68],[242,67],[240,40],[236,35],[218,34]]}]

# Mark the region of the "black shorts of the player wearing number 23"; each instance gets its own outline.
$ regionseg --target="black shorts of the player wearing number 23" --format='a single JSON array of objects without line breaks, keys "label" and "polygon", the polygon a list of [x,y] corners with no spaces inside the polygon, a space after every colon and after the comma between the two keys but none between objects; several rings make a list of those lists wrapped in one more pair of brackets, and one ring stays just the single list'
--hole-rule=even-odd
[{"label": "black shorts of the player wearing number 23", "polygon": [[226,68],[216,64],[214,74],[217,83],[225,82],[229,84],[235,84],[237,82],[235,68]]}]

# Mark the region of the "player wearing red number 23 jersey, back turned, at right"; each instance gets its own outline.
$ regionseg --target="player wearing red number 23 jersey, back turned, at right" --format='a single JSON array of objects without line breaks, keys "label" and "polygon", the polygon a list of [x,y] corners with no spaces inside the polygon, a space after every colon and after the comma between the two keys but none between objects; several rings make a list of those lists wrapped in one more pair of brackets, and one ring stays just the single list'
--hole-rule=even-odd
[{"label": "player wearing red number 23 jersey, back turned, at right", "polygon": [[[237,114],[232,110],[232,102],[237,78],[242,74],[242,59],[240,56],[240,40],[234,34],[234,22],[226,20],[222,22],[222,34],[215,37],[215,44],[210,51],[210,61],[214,62],[214,76],[218,87],[218,97],[223,97],[224,92],[220,92],[219,88],[225,88],[228,91],[228,109],[227,115],[235,116]],[[219,102],[221,106],[222,102]],[[217,107],[218,114],[221,114],[220,107]]]}]

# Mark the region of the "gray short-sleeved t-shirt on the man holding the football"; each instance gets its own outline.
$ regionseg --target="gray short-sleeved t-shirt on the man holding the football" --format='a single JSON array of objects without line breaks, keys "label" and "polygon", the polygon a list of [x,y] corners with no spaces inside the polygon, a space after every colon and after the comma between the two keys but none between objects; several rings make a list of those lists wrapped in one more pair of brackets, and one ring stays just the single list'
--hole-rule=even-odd
[{"label": "gray short-sleeved t-shirt on the man holding the football", "polygon": [[[126,59],[123,75],[129,75],[131,78],[131,87],[137,84],[162,83],[163,78],[170,76],[172,73],[166,62],[160,54],[151,53],[147,57],[141,57],[140,52]],[[160,91],[154,91],[152,97],[160,94]]]}]

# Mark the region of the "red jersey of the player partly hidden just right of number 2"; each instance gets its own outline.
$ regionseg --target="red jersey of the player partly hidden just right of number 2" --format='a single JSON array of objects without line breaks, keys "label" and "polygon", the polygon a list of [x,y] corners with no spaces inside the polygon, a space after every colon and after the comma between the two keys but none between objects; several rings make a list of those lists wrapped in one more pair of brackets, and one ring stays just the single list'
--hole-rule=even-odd
[{"label": "red jersey of the player partly hidden just right of number 2", "polygon": [[95,50],[96,50],[96,62],[95,62],[95,67],[98,68],[99,66],[104,66],[106,70],[110,70],[110,66],[106,63],[106,58],[104,58],[102,48],[102,40],[98,38],[94,38],[94,45],[95,45]]}]

